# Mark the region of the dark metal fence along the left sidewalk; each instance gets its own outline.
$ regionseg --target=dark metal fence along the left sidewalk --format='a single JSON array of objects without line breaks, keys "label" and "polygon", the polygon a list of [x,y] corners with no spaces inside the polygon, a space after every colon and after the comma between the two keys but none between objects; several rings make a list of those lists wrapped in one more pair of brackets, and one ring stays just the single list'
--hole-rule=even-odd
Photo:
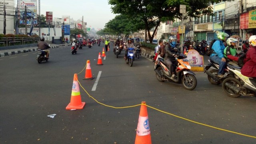
[{"label": "dark metal fence along the left sidewalk", "polygon": [[[22,44],[35,44],[40,41],[40,37],[14,37],[14,38],[0,38],[0,46],[15,46]],[[49,39],[50,41],[50,39]]]}]

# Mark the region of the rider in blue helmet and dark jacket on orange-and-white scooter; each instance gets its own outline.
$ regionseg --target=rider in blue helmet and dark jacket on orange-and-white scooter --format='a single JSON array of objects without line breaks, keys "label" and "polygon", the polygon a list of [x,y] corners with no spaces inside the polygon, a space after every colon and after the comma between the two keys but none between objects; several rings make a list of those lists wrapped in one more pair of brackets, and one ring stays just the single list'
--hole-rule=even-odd
[{"label": "rider in blue helmet and dark jacket on orange-and-white scooter", "polygon": [[170,45],[170,43],[172,42],[170,39],[168,40],[163,40],[164,44],[165,44],[165,54],[164,54],[164,62],[165,64],[168,66],[168,68],[170,69],[170,74],[172,75],[171,78],[175,79],[176,78],[176,72],[175,69],[178,65],[178,62],[176,60],[176,51],[174,51],[174,49],[172,48],[172,46]]}]

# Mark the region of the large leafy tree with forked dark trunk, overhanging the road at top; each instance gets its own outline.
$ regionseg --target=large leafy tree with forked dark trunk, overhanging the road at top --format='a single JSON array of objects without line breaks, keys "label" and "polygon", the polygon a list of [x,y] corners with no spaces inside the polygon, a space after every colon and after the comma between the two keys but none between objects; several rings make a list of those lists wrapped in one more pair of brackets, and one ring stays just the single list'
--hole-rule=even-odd
[{"label": "large leafy tree with forked dark trunk, overhanging the road at top", "polygon": [[[199,17],[201,14],[213,15],[209,2],[221,0],[109,0],[114,14],[125,14],[132,18],[139,18],[144,22],[144,29],[148,32],[150,43],[156,34],[160,22],[182,19],[180,4],[186,5],[187,16]],[[185,19],[188,18],[185,16]],[[154,28],[151,35],[150,29]]]}]

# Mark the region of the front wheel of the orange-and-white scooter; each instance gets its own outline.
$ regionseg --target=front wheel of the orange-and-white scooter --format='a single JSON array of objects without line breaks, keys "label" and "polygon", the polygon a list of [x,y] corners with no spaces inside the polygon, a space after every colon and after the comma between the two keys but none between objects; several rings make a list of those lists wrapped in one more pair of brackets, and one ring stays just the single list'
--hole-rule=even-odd
[{"label": "front wheel of the orange-and-white scooter", "polygon": [[[188,81],[186,80],[186,78]],[[185,89],[194,90],[197,84],[196,77],[193,74],[183,75],[181,78],[181,83]]]}]

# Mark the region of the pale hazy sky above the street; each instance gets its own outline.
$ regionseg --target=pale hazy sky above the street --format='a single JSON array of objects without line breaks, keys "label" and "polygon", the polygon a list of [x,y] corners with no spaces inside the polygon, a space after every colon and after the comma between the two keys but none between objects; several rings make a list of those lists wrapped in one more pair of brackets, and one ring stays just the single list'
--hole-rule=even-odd
[{"label": "pale hazy sky above the street", "polygon": [[46,16],[46,12],[52,12],[53,18],[70,16],[75,21],[84,16],[86,27],[92,26],[95,30],[103,29],[117,15],[110,7],[108,0],[40,0],[40,14]]}]

